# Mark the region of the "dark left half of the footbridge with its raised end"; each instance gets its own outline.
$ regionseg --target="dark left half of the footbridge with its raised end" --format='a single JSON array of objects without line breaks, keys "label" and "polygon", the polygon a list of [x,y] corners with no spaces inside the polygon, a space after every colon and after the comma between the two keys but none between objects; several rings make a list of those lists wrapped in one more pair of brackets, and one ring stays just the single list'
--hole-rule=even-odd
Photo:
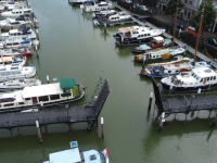
[{"label": "dark left half of the footbridge with its raised end", "polygon": [[43,110],[38,112],[0,114],[0,128],[11,130],[16,127],[36,126],[36,121],[38,121],[40,125],[64,123],[68,126],[74,123],[87,122],[88,130],[90,131],[93,125],[98,122],[98,116],[101,113],[108,93],[110,87],[107,80],[101,79],[93,96],[86,105],[69,109]]}]

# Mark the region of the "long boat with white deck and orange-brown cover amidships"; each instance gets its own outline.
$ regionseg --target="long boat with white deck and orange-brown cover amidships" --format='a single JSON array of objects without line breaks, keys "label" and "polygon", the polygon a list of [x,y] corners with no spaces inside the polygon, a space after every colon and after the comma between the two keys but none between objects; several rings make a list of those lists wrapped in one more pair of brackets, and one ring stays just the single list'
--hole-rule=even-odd
[{"label": "long boat with white deck and orange-brown cover amidships", "polygon": [[177,55],[186,54],[184,48],[167,48],[167,49],[155,49],[143,54],[138,54],[135,57],[135,62],[155,62],[157,60],[168,60],[174,59]]}]

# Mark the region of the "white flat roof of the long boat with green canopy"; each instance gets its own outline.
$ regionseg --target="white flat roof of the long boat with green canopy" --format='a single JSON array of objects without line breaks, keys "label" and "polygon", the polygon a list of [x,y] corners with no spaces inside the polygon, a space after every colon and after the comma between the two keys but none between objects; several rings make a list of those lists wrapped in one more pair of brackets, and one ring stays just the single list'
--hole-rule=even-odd
[{"label": "white flat roof of the long boat with green canopy", "polygon": [[25,87],[23,98],[41,97],[63,93],[60,83]]}]

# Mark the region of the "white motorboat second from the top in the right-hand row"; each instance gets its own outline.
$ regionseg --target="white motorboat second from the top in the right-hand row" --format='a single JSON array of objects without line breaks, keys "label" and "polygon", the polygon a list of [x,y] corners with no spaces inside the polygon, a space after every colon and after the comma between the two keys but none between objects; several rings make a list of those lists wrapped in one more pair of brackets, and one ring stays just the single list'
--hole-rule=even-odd
[{"label": "white motorboat second from the top in the right-hand row", "polygon": [[93,12],[93,11],[114,9],[116,4],[117,2],[112,2],[112,1],[111,2],[101,1],[99,3],[93,1],[92,4],[89,4],[89,3],[80,4],[80,9],[84,12]]}]

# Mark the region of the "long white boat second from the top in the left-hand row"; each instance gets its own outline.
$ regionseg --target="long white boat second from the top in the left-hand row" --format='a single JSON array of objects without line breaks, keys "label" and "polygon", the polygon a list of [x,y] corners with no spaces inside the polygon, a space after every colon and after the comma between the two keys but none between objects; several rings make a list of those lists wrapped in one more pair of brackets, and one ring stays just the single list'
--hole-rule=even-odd
[{"label": "long white boat second from the top in the left-hand row", "polygon": [[31,12],[31,9],[25,8],[25,9],[14,9],[12,11],[5,11],[0,13],[0,16],[5,17],[17,17],[20,15],[29,14]]}]

